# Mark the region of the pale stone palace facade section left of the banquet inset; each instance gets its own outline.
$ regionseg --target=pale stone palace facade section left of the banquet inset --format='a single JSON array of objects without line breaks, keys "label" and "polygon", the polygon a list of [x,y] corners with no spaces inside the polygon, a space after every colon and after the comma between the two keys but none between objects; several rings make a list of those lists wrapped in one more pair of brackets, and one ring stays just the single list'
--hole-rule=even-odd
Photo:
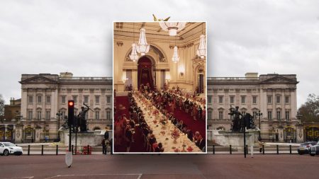
[{"label": "pale stone palace facade section left of the banquet inset", "polygon": [[77,115],[86,103],[89,130],[112,129],[113,90],[109,77],[74,77],[72,73],[22,74],[21,115],[16,119],[16,142],[57,139],[65,123],[67,101],[74,100]]}]

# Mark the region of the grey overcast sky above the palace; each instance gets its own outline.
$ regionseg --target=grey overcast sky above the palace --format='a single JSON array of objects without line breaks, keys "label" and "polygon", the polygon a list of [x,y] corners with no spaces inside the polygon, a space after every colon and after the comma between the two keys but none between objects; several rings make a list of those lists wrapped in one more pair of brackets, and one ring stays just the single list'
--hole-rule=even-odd
[{"label": "grey overcast sky above the palace", "polygon": [[113,21],[208,22],[208,76],[297,74],[298,105],[319,95],[319,1],[0,1],[0,94],[21,74],[112,75]]}]

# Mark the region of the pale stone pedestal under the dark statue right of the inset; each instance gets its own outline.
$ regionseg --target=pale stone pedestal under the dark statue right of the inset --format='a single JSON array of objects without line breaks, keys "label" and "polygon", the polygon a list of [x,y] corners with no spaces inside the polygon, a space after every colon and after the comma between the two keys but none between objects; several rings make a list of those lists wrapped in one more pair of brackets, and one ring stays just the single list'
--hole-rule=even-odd
[{"label": "pale stone pedestal under the dark statue right of the inset", "polygon": [[[258,130],[248,130],[246,132],[246,145],[253,146],[258,142]],[[243,149],[244,146],[244,133],[228,132],[223,130],[212,130],[212,139],[216,144],[221,146],[230,146],[233,148]]]}]

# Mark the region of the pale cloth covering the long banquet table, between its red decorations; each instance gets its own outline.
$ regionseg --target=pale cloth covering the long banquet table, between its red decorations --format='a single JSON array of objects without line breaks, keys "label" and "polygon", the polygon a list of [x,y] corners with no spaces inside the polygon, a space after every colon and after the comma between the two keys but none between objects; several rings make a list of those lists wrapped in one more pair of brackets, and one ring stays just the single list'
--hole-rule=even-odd
[{"label": "pale cloth covering the long banquet table, between its red decorations", "polygon": [[[150,129],[153,131],[157,143],[162,143],[164,152],[175,152],[175,149],[179,149],[179,151],[181,152],[183,151],[183,144],[186,145],[184,147],[186,152],[189,152],[187,151],[189,146],[193,148],[193,151],[191,152],[202,152],[201,149],[199,149],[194,142],[191,142],[191,140],[187,138],[187,135],[181,131],[179,131],[180,137],[176,140],[177,144],[174,144],[174,139],[172,139],[171,132],[174,129],[177,129],[177,127],[175,127],[170,120],[167,120],[168,123],[166,125],[162,125],[162,123],[159,122],[159,119],[162,119],[165,116],[161,112],[159,112],[158,117],[155,117],[155,115],[153,115],[151,111],[156,109],[155,106],[152,105],[152,109],[148,110],[147,103],[150,103],[148,100],[147,103],[143,103],[142,100],[140,100],[140,98],[138,98],[138,96],[136,96],[135,94],[133,94],[133,97],[135,98],[138,106],[142,109],[145,115],[145,121],[147,122],[147,125],[150,127]],[[156,124],[153,122],[154,120],[157,120]],[[164,131],[165,133],[162,134],[162,131]]]}]

